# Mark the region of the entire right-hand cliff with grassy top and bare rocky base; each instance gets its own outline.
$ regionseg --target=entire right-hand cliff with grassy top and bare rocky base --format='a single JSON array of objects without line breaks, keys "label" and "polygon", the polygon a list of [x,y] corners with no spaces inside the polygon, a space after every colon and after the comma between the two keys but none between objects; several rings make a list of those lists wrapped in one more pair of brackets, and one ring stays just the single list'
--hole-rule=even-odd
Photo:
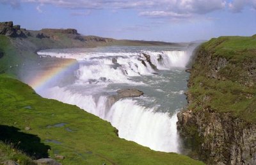
[{"label": "entire right-hand cliff with grassy top and bare rocky base", "polygon": [[201,45],[177,122],[184,145],[207,164],[256,164],[256,36]]}]

